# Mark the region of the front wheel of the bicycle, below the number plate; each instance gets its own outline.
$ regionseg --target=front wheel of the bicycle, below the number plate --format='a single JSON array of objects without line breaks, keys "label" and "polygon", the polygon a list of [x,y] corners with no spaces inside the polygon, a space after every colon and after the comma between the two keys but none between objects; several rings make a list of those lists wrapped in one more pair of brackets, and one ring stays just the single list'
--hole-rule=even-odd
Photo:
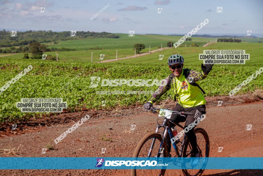
[{"label": "front wheel of the bicycle, below the number plate", "polygon": [[[167,157],[167,145],[162,141],[159,133],[149,133],[140,140],[132,157],[148,157],[152,141],[155,140],[150,157],[160,157],[159,148],[163,149],[163,157]],[[132,176],[140,175],[164,175],[165,169],[132,169]]]}]

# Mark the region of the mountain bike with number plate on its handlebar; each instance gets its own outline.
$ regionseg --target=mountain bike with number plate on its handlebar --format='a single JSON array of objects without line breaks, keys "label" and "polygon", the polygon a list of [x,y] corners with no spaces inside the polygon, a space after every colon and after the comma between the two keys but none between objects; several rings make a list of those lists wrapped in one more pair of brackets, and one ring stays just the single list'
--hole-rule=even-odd
[{"label": "mountain bike with number plate on its handlebar", "polygon": [[[156,113],[157,112],[156,110],[159,110],[159,111],[168,110],[172,112],[173,114],[181,115],[184,118],[186,118],[186,115],[192,115],[192,113],[189,113],[189,112],[176,112],[176,111],[171,111],[169,109],[159,109],[156,107],[151,107],[150,110],[145,110],[145,111],[152,111],[153,113]],[[140,140],[140,142],[137,144],[137,147],[135,148],[133,157],[160,157],[161,155],[160,148],[161,150],[163,150],[163,157],[168,157],[167,145],[166,145],[166,140],[165,140],[167,132],[169,133],[170,139],[172,139],[175,136],[172,133],[170,124],[167,122],[169,121],[172,124],[175,124],[178,127],[182,128],[183,130],[184,130],[184,127],[172,121],[171,119],[169,119],[168,118],[169,115],[164,116],[165,113],[164,115],[162,114],[160,115],[161,117],[164,118],[162,124],[158,123],[154,133],[148,133]],[[163,128],[163,131],[159,131],[160,127]],[[198,147],[198,151],[200,152],[200,157],[203,157],[203,156],[209,157],[210,144],[209,144],[209,138],[208,138],[207,132],[202,128],[195,128],[194,133],[197,138],[197,147]],[[186,137],[186,134],[184,134],[182,142],[181,141],[174,142],[172,143],[172,145],[173,145],[173,148],[176,154],[175,157],[173,158],[174,164],[175,164],[174,161],[176,160],[176,157],[191,157],[192,147],[191,147],[191,144],[189,143],[188,138]],[[154,148],[155,146],[157,147]],[[143,174],[141,175],[159,175],[160,176],[160,175],[164,175],[165,171],[166,171],[165,168],[159,169],[159,171],[156,169],[154,169],[154,171],[153,170],[132,169],[131,175],[138,176],[140,175],[140,172],[142,172]],[[204,169],[186,169],[186,167],[182,167],[182,171],[183,171],[183,174],[186,176],[200,176],[204,172]]]}]

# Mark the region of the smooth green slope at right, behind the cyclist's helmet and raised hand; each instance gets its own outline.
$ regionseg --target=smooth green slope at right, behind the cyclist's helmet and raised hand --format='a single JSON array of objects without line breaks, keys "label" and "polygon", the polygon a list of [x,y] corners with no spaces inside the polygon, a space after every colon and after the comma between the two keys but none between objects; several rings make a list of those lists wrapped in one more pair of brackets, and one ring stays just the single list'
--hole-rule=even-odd
[{"label": "smooth green slope at right, behind the cyclist's helmet and raised hand", "polygon": [[[154,52],[149,55],[143,55],[138,58],[129,58],[119,61],[118,63],[126,64],[154,64],[154,65],[167,65],[167,59],[172,54],[181,54],[185,59],[185,64],[196,65],[201,64],[202,61],[198,60],[200,53],[205,49],[244,49],[246,53],[250,54],[250,60],[246,61],[246,65],[263,64],[263,43],[211,43],[207,47],[178,47],[172,49],[165,49],[162,51]],[[163,60],[158,60],[159,55],[164,55]],[[238,65],[236,65],[238,66]],[[239,65],[242,66],[242,65]]]}]

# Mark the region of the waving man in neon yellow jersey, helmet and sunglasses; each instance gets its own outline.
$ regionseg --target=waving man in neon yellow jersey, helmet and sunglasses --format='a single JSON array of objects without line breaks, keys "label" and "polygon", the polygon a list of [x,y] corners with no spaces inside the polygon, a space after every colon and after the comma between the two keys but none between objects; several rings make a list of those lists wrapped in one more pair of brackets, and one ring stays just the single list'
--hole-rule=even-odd
[{"label": "waving man in neon yellow jersey, helmet and sunglasses", "polygon": [[[180,115],[171,115],[171,120],[179,123],[186,121],[184,127],[188,127],[192,122],[206,113],[206,100],[203,89],[196,83],[202,79],[205,79],[208,73],[212,70],[213,64],[201,64],[202,72],[190,70],[184,67],[184,58],[181,55],[175,54],[168,58],[168,65],[172,72],[167,78],[164,79],[162,85],[152,95],[150,100],[143,105],[145,109],[150,109],[153,103],[155,103],[163,94],[165,94],[170,88],[172,88],[178,103],[173,108],[173,111],[184,111],[193,113],[193,115],[187,115],[186,118]],[[175,125],[170,123],[170,127]],[[186,133],[187,138],[192,146],[191,157],[199,157],[197,141],[194,128]],[[168,145],[168,156],[171,157],[171,141],[169,135],[166,135],[166,143]]]}]

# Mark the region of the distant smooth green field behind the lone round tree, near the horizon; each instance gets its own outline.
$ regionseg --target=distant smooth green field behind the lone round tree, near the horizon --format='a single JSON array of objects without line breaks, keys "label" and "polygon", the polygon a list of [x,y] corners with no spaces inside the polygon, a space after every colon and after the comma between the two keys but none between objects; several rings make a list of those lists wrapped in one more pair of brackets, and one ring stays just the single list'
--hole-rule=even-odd
[{"label": "distant smooth green field behind the lone round tree, near the horizon", "polygon": [[[129,37],[128,34],[117,34],[120,38],[98,38],[98,39],[85,39],[85,40],[67,40],[60,41],[58,44],[44,43],[48,47],[56,48],[71,48],[76,50],[87,50],[89,48],[95,48],[96,46],[103,49],[131,49],[135,43],[145,44],[146,51],[151,48],[167,47],[167,42],[177,42],[182,36],[168,36],[168,35],[139,35],[135,34],[134,37]],[[183,45],[190,46],[191,43],[196,43],[199,46],[203,46],[210,40],[214,41],[216,38],[204,38],[204,37],[191,37],[192,41],[185,41]]]}]

